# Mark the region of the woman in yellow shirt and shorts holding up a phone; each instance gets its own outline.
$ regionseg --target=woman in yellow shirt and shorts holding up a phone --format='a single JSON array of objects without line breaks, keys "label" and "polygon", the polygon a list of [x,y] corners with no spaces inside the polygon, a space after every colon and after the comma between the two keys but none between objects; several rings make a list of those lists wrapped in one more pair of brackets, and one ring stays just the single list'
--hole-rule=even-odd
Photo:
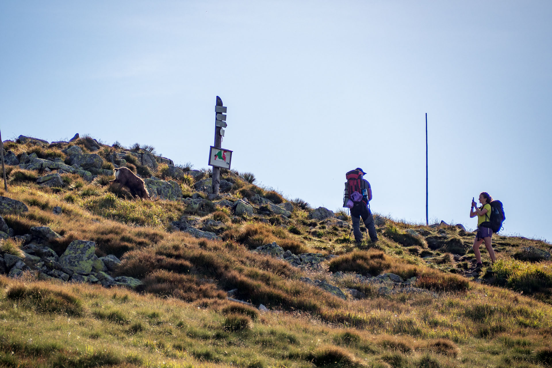
[{"label": "woman in yellow shirt and shorts holding up a phone", "polygon": [[475,234],[474,253],[477,264],[476,270],[481,269],[481,252],[479,246],[485,242],[485,248],[489,252],[491,262],[495,263],[495,251],[492,249],[491,237],[492,233],[497,233],[502,228],[502,222],[505,220],[504,210],[501,201],[493,201],[489,193],[486,191],[479,195],[481,207],[477,208],[475,200],[471,201],[470,217],[477,216],[477,233]]}]

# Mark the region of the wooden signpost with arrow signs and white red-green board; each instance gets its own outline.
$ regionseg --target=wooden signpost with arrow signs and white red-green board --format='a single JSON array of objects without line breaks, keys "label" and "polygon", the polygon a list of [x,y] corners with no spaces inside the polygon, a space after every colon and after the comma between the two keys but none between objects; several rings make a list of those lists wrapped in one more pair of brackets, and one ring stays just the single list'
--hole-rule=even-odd
[{"label": "wooden signpost with arrow signs and white red-green board", "polygon": [[[222,100],[216,97],[215,105],[215,145],[210,147],[209,166],[213,166],[213,194],[219,194],[220,188],[220,168],[230,169],[230,159],[232,151],[221,148],[222,137],[226,124],[226,106],[222,106]],[[217,150],[217,148],[220,148]]]}]

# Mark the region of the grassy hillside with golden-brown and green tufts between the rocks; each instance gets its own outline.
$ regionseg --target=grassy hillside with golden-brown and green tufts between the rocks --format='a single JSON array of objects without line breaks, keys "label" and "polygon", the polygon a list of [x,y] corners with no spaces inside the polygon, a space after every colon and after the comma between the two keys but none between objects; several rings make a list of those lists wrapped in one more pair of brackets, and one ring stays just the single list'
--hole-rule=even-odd
[{"label": "grassy hillside with golden-brown and green tufts between the rocks", "polygon": [[[176,179],[184,198],[205,201],[194,207],[184,198],[129,199],[100,172],[92,182],[62,174],[62,185],[45,187],[35,180],[46,173],[8,166],[9,190],[0,195],[29,206],[22,215],[3,216],[16,235],[49,226],[62,236],[50,244],[58,255],[75,239],[94,241],[98,256],[123,259],[116,273],[144,285],[134,292],[38,281],[33,273],[0,276],[0,366],[552,365],[551,262],[522,249],[550,250],[548,243],[493,236],[498,261],[490,265],[482,249],[486,268],[476,274],[475,234],[455,226],[379,216],[380,241],[355,247],[346,214],[338,214],[345,221],[312,220],[306,202],[259,188],[251,173],[223,170],[231,188],[210,201],[194,187],[208,170],[192,175],[182,167],[183,176],[170,178],[166,163],[153,169],[129,154],[120,161],[113,153],[126,150],[118,145],[89,137],[73,144],[100,154],[105,170],[127,166],[142,177]],[[13,142],[6,149],[18,157],[35,152],[63,161],[67,146]],[[133,152],[151,153],[145,148],[135,145]],[[235,216],[221,201],[238,199],[248,199],[254,213]],[[263,199],[290,202],[293,212],[275,214]],[[61,215],[52,214],[56,206]],[[203,225],[220,240],[194,238],[174,221]],[[295,267],[252,252],[272,242],[325,260]],[[0,253],[17,252],[20,245],[2,241]],[[385,273],[411,280],[415,290],[401,292],[395,285],[386,294],[381,284],[365,281]],[[346,300],[305,278],[339,287]],[[259,311],[261,304],[269,311]]]}]

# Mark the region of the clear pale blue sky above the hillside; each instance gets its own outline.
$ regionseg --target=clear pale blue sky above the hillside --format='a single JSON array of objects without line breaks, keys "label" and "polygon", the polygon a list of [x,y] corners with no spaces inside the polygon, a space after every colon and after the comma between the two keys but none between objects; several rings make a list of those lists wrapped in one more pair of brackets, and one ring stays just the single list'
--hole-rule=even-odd
[{"label": "clear pale blue sky above the hillside", "polygon": [[550,1],[2,1],[0,128],[139,142],[207,166],[215,96],[232,167],[332,210],[552,239]]}]

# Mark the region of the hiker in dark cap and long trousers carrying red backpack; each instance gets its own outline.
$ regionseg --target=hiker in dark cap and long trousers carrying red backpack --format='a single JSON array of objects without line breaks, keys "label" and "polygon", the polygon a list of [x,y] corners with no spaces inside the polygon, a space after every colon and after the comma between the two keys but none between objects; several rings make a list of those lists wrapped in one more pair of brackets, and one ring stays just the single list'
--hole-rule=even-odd
[{"label": "hiker in dark cap and long trousers carrying red backpack", "polygon": [[360,218],[364,226],[368,229],[371,241],[378,241],[378,234],[374,225],[374,217],[371,214],[368,202],[372,199],[372,190],[368,180],[363,176],[366,173],[359,167],[349,171],[346,174],[347,183],[345,183],[345,195],[343,207],[351,209],[351,218],[353,220],[353,234],[355,242],[362,242],[362,233],[360,232]]}]

